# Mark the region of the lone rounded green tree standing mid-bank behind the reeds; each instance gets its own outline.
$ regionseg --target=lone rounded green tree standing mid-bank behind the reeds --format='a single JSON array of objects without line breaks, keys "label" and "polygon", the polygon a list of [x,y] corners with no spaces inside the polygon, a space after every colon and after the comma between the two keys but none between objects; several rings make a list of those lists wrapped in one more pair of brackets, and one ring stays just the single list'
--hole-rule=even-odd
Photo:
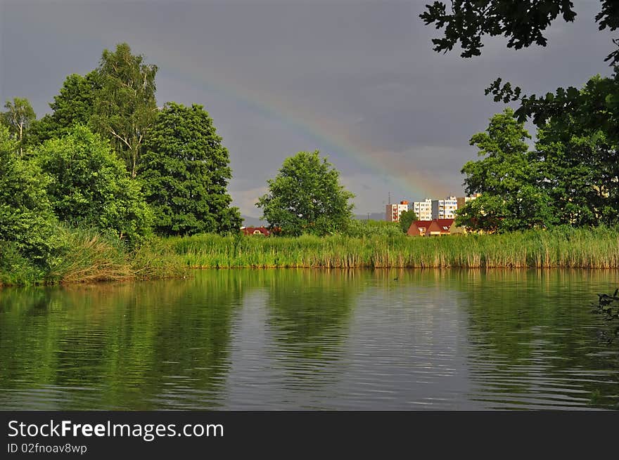
[{"label": "lone rounded green tree standing mid-bank behind the reeds", "polygon": [[284,160],[279,174],[267,180],[269,192],[258,200],[263,216],[285,235],[345,232],[355,195],[340,185],[340,173],[319,152],[298,152]]}]

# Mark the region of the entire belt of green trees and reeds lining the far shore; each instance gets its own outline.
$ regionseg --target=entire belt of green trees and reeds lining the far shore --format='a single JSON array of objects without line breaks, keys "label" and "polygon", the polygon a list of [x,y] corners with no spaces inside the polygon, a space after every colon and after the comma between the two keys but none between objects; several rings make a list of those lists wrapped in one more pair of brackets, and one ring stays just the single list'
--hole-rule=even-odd
[{"label": "entire belt of green trees and reeds lining the far shore", "polygon": [[[461,171],[466,192],[480,197],[457,224],[497,234],[439,239],[403,235],[414,213],[402,225],[353,221],[354,195],[318,151],[284,160],[257,197],[278,236],[239,235],[222,138],[202,105],[158,107],[157,71],[119,44],[89,74],[67,77],[51,114],[36,119],[27,99],[6,102],[0,285],[179,277],[191,268],[619,268],[616,69],[580,91],[521,98],[516,112],[494,115],[471,138],[481,158]],[[497,83],[487,92],[518,100],[519,88],[510,91]]]}]

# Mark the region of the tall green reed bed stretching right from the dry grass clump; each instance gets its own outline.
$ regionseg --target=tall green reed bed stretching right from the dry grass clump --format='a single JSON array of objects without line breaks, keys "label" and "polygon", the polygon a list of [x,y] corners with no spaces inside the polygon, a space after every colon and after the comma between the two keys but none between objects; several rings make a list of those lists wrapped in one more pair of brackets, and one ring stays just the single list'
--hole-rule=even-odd
[{"label": "tall green reed bed stretching right from the dry grass clump", "polygon": [[163,241],[191,268],[619,268],[619,230],[298,238],[196,235]]}]

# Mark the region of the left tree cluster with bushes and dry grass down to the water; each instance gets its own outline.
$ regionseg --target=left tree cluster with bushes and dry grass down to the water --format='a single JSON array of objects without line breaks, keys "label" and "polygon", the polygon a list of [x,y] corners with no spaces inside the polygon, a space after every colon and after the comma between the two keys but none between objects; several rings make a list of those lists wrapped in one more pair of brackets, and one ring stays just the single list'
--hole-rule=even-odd
[{"label": "left tree cluster with bushes and dry grass down to the water", "polygon": [[[85,76],[69,75],[41,119],[27,99],[6,102],[0,284],[125,277],[119,254],[148,243],[153,214],[162,235],[238,230],[228,152],[212,119],[199,105],[158,109],[157,70],[119,44]],[[160,271],[152,260],[140,265]]]}]

